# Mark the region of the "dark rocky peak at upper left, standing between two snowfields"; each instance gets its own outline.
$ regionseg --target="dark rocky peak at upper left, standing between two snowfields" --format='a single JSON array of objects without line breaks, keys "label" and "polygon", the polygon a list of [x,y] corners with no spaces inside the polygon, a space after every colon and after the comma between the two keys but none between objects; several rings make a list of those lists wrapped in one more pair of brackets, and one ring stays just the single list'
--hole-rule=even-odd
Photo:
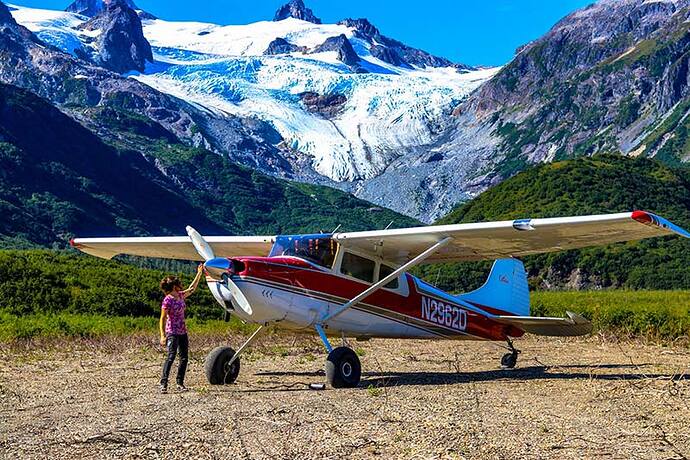
[{"label": "dark rocky peak at upper left, standing between two snowfields", "polygon": [[100,30],[95,61],[118,73],[142,72],[146,61],[153,62],[151,45],[144,38],[141,19],[127,0],[111,0],[106,9],[84,23],[86,30]]}]

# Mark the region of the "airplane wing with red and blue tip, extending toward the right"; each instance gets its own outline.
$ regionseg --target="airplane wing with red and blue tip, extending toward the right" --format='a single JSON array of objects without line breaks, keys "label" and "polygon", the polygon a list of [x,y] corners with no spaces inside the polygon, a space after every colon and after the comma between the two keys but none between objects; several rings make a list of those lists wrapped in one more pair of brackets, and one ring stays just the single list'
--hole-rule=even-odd
[{"label": "airplane wing with red and blue tip, extending toward the right", "polygon": [[424,263],[522,257],[619,241],[690,233],[645,211],[596,216],[520,219],[338,233],[344,247],[402,264],[444,238],[452,241]]}]

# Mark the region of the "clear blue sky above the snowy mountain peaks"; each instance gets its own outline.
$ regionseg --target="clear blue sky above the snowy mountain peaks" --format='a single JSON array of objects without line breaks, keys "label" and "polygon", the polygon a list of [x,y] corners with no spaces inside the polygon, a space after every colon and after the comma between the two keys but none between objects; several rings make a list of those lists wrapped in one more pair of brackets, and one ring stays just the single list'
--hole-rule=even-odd
[{"label": "clear blue sky above the snowy mountain peaks", "polygon": [[[287,0],[135,0],[168,20],[246,24],[268,20]],[[366,17],[384,35],[472,65],[504,64],[515,48],[593,0],[305,0],[326,23]],[[69,0],[9,0],[63,9]]]}]

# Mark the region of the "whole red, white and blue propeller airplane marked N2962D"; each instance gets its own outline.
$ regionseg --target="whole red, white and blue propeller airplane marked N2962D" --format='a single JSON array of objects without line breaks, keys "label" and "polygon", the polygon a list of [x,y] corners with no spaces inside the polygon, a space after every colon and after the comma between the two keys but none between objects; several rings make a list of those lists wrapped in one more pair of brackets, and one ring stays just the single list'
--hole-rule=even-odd
[{"label": "whole red, white and blue propeller airplane marked N2962D", "polygon": [[[646,211],[518,219],[361,232],[276,236],[77,238],[73,247],[106,259],[118,254],[204,261],[206,281],[226,310],[259,328],[237,349],[205,359],[210,384],[233,383],[240,355],[267,326],[318,334],[333,388],[360,383],[361,364],[346,337],[505,341],[504,368],[515,367],[513,338],[525,333],[579,336],[583,316],[530,316],[527,273],[518,257],[606,245],[687,230]],[[452,295],[408,273],[420,264],[494,260],[485,284]],[[328,336],[341,336],[333,347]]]}]

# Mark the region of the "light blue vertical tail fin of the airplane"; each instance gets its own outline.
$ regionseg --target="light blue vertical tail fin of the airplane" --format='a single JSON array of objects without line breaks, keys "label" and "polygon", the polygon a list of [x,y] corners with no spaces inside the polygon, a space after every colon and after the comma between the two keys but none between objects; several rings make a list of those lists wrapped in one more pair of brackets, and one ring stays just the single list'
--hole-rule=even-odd
[{"label": "light blue vertical tail fin of the airplane", "polygon": [[458,297],[489,313],[529,316],[525,266],[517,259],[498,259],[482,287]]}]

